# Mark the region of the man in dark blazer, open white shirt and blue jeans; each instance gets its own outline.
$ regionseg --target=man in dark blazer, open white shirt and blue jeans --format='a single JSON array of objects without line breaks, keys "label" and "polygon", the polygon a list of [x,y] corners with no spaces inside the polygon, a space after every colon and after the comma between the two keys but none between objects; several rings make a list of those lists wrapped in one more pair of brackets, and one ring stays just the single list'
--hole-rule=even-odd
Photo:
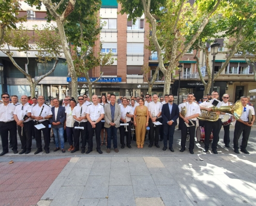
[{"label": "man in dark blazer, open white shirt and blue jeans", "polygon": [[61,140],[62,153],[65,153],[64,149],[64,122],[66,119],[65,107],[59,107],[59,100],[53,99],[52,118],[49,119],[55,139],[56,148],[53,151],[59,150],[58,138]]}]

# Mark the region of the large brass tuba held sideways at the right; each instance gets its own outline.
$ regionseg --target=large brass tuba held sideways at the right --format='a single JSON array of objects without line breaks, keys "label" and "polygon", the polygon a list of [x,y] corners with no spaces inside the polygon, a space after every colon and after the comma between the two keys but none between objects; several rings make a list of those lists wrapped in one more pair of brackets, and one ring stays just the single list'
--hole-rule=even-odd
[{"label": "large brass tuba held sideways at the right", "polygon": [[237,100],[234,105],[222,106],[222,107],[209,107],[212,108],[212,111],[208,112],[207,110],[201,110],[201,114],[198,116],[198,119],[202,121],[216,122],[219,119],[218,112],[225,112],[233,114],[236,119],[239,119],[243,112],[242,101]]}]

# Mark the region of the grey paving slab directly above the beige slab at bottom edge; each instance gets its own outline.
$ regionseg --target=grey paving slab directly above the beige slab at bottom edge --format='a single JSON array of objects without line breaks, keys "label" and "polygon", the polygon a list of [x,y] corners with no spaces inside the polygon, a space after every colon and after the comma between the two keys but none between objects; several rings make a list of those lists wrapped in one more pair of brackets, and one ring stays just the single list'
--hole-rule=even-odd
[{"label": "grey paving slab directly above the beige slab at bottom edge", "polygon": [[134,197],[160,197],[151,176],[131,176]]}]

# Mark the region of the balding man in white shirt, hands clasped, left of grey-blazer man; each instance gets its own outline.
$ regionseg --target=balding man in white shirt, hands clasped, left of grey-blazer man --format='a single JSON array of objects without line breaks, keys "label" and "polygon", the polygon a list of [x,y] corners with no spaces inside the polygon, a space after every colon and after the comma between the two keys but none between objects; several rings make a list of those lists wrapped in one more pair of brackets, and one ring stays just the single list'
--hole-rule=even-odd
[{"label": "balding man in white shirt, hands clasped, left of grey-blazer man", "polygon": [[86,151],[86,154],[93,151],[93,134],[95,131],[96,136],[96,150],[100,154],[102,154],[102,151],[100,150],[100,132],[101,132],[101,119],[104,118],[104,108],[101,104],[98,103],[98,96],[93,95],[93,104],[89,105],[86,110],[86,117],[88,119],[88,150]]}]

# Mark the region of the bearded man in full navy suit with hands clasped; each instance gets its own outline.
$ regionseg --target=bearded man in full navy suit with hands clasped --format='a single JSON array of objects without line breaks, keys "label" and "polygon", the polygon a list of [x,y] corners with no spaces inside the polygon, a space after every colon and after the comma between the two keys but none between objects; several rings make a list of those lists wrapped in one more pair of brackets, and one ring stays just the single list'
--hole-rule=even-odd
[{"label": "bearded man in full navy suit with hands clasped", "polygon": [[[177,118],[179,116],[178,105],[173,103],[173,94],[168,95],[168,104],[164,104],[162,107],[163,118],[163,151],[167,149],[167,137],[169,135],[169,149],[174,152],[172,148],[173,134],[175,126],[177,125]],[[169,134],[168,134],[169,132]]]}]

